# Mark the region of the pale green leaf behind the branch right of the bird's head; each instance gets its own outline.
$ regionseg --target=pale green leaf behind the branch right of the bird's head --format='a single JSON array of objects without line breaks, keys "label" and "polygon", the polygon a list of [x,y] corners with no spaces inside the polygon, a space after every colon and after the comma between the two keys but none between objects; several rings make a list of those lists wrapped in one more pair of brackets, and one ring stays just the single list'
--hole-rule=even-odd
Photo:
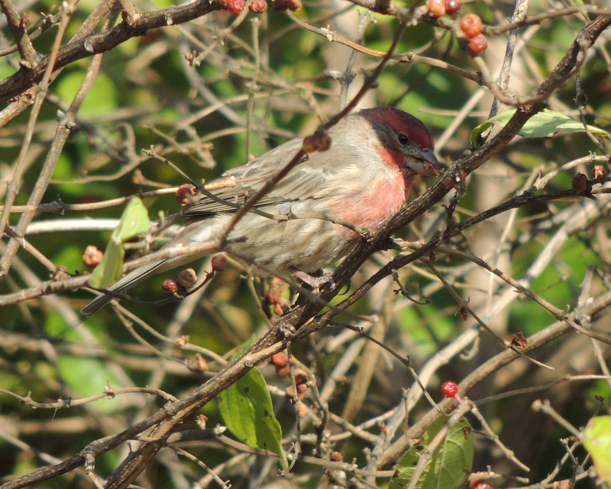
[{"label": "pale green leaf behind the branch right of the bird's head", "polygon": [[[477,145],[477,136],[491,127],[493,123],[497,122],[500,127],[505,127],[505,124],[513,117],[515,112],[515,109],[500,112],[497,116],[491,117],[491,119],[478,125],[471,133],[471,144]],[[596,136],[611,138],[611,134],[601,128],[588,125],[588,130],[592,134],[596,134]],[[558,112],[544,109],[542,112],[532,116],[518,134],[524,136],[524,138],[551,138],[551,136],[560,131],[584,133],[585,128],[579,120],[574,120]]]}]

